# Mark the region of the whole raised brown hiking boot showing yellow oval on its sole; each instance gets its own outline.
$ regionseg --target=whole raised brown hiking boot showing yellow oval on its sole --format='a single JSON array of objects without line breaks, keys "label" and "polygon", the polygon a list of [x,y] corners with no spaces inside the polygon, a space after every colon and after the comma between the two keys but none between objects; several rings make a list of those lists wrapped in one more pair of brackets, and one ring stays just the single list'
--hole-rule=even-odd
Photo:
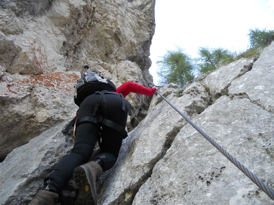
[{"label": "whole raised brown hiking boot showing yellow oval on its sole", "polygon": [[90,161],[74,169],[73,176],[79,188],[75,204],[97,205],[96,178],[102,172],[102,168],[95,161]]}]

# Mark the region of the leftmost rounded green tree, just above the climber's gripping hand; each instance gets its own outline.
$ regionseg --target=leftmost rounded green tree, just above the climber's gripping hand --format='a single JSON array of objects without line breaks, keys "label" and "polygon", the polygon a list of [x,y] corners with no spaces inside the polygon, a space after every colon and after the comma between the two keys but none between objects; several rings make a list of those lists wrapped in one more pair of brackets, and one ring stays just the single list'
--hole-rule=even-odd
[{"label": "leftmost rounded green tree, just above the climber's gripping hand", "polygon": [[162,60],[157,61],[157,65],[160,85],[175,83],[183,87],[194,79],[196,63],[180,48],[175,51],[168,50]]}]

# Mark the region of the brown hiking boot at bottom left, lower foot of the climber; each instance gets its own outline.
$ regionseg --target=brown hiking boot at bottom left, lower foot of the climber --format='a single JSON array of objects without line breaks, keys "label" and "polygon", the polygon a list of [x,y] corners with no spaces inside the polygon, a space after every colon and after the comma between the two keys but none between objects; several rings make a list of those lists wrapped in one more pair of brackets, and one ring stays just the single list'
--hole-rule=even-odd
[{"label": "brown hiking boot at bottom left, lower foot of the climber", "polygon": [[54,205],[58,194],[47,190],[40,190],[28,205]]}]

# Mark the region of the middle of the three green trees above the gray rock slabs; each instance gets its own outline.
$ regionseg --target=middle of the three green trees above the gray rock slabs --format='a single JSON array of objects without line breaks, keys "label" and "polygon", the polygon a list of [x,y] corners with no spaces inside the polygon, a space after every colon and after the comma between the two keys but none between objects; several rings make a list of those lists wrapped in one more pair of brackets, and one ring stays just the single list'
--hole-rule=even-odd
[{"label": "middle of the three green trees above the gray rock slabs", "polygon": [[199,47],[198,53],[200,55],[198,66],[201,74],[215,70],[219,65],[234,59],[233,53],[223,48]]}]

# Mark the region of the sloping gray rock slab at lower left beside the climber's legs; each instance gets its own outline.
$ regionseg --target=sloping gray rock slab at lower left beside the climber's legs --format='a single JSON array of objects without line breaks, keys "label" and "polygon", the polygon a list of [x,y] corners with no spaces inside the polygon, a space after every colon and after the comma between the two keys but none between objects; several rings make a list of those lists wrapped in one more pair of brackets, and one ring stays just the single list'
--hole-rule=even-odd
[{"label": "sloping gray rock slab at lower left beside the climber's legs", "polygon": [[43,187],[45,176],[73,147],[70,134],[61,130],[65,121],[14,149],[1,163],[0,204],[28,204]]}]

